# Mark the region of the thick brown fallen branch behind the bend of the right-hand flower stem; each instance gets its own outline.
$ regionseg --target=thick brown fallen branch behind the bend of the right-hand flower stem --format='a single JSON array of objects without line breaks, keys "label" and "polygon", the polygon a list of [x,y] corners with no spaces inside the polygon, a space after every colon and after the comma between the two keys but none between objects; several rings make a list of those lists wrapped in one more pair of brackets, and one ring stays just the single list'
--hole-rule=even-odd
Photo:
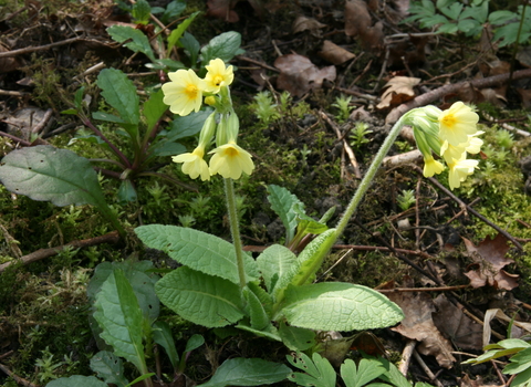
[{"label": "thick brown fallen branch behind the bend of the right-hand flower stem", "polygon": [[[470,84],[471,86],[477,88],[491,87],[493,85],[509,81],[510,75],[511,75],[510,73],[506,73],[506,74],[489,76],[480,80],[466,81],[466,82],[444,85],[439,88],[433,90],[431,92],[419,95],[416,98],[405,104],[402,104],[398,107],[395,107],[393,111],[391,111],[389,114],[387,114],[387,117],[385,118],[385,124],[391,126],[394,123],[396,123],[398,118],[400,118],[404,115],[404,113],[409,112],[412,108],[428,105],[429,103],[442,97],[446,94],[457,92],[459,88],[461,88],[466,84]],[[531,77],[531,69],[519,70],[512,73],[512,81],[522,80],[527,77]]]}]

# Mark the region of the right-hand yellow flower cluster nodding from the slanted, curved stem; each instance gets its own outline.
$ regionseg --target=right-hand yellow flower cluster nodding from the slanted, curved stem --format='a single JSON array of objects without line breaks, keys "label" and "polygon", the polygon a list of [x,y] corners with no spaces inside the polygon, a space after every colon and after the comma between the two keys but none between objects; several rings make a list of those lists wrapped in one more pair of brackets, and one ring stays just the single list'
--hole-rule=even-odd
[{"label": "right-hand yellow flower cluster nodding from the slanted, curved stem", "polygon": [[431,177],[445,170],[442,163],[434,158],[435,153],[449,168],[450,189],[459,188],[478,167],[478,160],[467,159],[467,154],[478,154],[483,144],[478,138],[483,133],[477,129],[478,114],[462,102],[456,102],[444,112],[435,106],[410,111],[407,119],[424,156],[424,176]]}]

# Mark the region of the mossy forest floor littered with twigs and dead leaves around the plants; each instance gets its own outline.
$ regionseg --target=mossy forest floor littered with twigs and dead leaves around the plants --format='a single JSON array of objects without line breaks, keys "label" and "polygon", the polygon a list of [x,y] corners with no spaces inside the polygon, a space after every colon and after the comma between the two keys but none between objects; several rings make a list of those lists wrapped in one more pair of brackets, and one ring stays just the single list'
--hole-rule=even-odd
[{"label": "mossy forest floor littered with twigs and dead leaves around the plants", "polygon": [[[149,2],[152,9],[168,3]],[[492,3],[493,8],[500,6]],[[51,144],[87,158],[108,158],[95,145],[72,145],[79,130],[86,128],[77,116],[62,112],[73,107],[81,86],[91,97],[92,111],[108,108],[96,85],[104,67],[127,73],[142,95],[164,79],[164,72],[145,66],[147,56],[133,54],[106,32],[118,23],[136,25],[131,12],[111,0],[31,0],[24,4],[0,0],[0,6],[2,156],[15,148]],[[357,7],[356,12],[350,7]],[[244,53],[230,61],[238,69],[231,93],[241,122],[241,144],[257,165],[251,178],[238,186],[244,198],[243,243],[254,255],[263,247],[282,241],[285,233],[282,221],[270,209],[266,186],[289,189],[314,219],[335,207],[329,220],[332,226],[394,123],[389,122],[394,108],[412,107],[429,95],[424,104],[442,109],[458,100],[478,106],[486,133],[485,150],[478,156],[480,168],[473,177],[450,191],[447,174],[423,177],[418,157],[387,164],[317,279],[363,284],[389,294],[409,316],[413,331],[418,328],[419,315],[433,320],[426,336],[440,335],[448,353],[430,348],[429,338],[415,337],[407,328],[373,332],[394,362],[399,360],[407,342],[419,342],[418,352],[435,377],[412,360],[409,380],[444,386],[501,385],[507,376],[501,381],[496,365],[461,365],[482,353],[481,338],[464,342],[462,337],[481,337],[481,322],[490,308],[500,308],[519,323],[531,318],[531,73],[523,50],[514,62],[514,45],[485,49],[478,36],[426,33],[418,23],[400,23],[407,8],[405,0],[355,0],[347,6],[334,0],[209,0],[189,1],[181,15],[202,12],[187,30],[201,45],[222,32],[241,34]],[[150,24],[157,23],[152,19]],[[152,36],[155,31],[138,28]],[[325,42],[330,44],[327,52]],[[9,52],[12,55],[3,55]],[[190,65],[183,49],[176,52]],[[303,66],[309,70],[302,72]],[[508,74],[511,66],[517,72],[510,82],[507,76],[504,82],[488,86],[469,83]],[[385,85],[398,76],[407,79],[409,86],[403,83],[405,90],[385,100]],[[445,84],[457,86],[447,93]],[[291,96],[282,96],[283,91]],[[254,97],[261,92],[270,92],[277,109],[277,117],[268,123],[257,116]],[[346,116],[342,116],[337,98],[351,98]],[[170,121],[168,112],[162,128],[169,129]],[[366,132],[356,137],[361,123],[366,124]],[[119,134],[108,126],[104,129],[124,145]],[[194,144],[194,138],[184,140],[188,149]],[[414,149],[404,133],[389,156]],[[159,269],[177,266],[160,251],[145,250],[134,237],[135,227],[183,224],[188,216],[195,229],[230,239],[220,179],[201,185],[181,174],[169,157],[157,163],[157,171],[180,184],[144,179],[138,184],[138,199],[129,203],[117,201],[118,182],[112,174],[102,177],[105,196],[128,232],[119,242],[116,234],[108,234],[114,230],[90,206],[59,208],[2,187],[0,386],[44,386],[56,377],[92,375],[90,358],[100,347],[91,330],[85,293],[94,268],[124,259],[149,260]],[[114,174],[119,175],[116,170]],[[408,191],[413,197],[409,202],[405,200]],[[108,238],[103,243],[90,242],[101,236]],[[40,250],[79,240],[83,242],[75,245],[79,250],[65,249],[59,254]],[[456,310],[449,310],[447,303]],[[415,308],[413,304],[421,306]],[[189,379],[171,381],[166,377],[167,386],[205,383],[223,360],[233,357],[287,364],[289,351],[280,344],[241,332],[221,336],[164,307],[160,318],[171,325],[180,349],[194,334],[206,338],[206,345],[188,359]],[[467,322],[455,325],[457,320]],[[445,328],[449,325],[455,326],[452,332]],[[506,336],[507,322],[494,320],[491,325]],[[523,328],[513,334],[525,333],[529,331]],[[342,333],[345,337],[352,334]],[[492,337],[492,342],[498,339]],[[358,351],[348,351],[346,356],[358,358]],[[43,365],[45,359],[48,366]],[[160,367],[163,374],[169,373],[167,360],[162,360]],[[133,375],[133,368],[126,368],[126,373]]]}]

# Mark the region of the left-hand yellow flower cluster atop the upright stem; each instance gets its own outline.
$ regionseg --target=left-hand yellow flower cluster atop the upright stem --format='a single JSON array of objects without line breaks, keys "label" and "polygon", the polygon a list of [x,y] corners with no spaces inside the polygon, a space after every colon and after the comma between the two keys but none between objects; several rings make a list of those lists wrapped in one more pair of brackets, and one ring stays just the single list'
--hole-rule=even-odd
[{"label": "left-hand yellow flower cluster atop the upright stem", "polygon": [[[237,145],[239,121],[233,112],[228,87],[235,79],[232,66],[226,66],[222,60],[215,59],[205,67],[207,74],[204,80],[192,70],[178,70],[169,73],[171,82],[163,85],[163,101],[175,114],[186,116],[192,111],[199,112],[204,95],[205,103],[216,108],[205,121],[196,149],[171,159],[183,163],[183,172],[192,179],[200,176],[205,181],[216,174],[223,178],[239,179],[242,172],[250,175],[254,164],[251,155]],[[217,116],[219,124],[216,123]],[[215,136],[217,148],[208,153],[212,154],[208,165],[204,156]]]}]

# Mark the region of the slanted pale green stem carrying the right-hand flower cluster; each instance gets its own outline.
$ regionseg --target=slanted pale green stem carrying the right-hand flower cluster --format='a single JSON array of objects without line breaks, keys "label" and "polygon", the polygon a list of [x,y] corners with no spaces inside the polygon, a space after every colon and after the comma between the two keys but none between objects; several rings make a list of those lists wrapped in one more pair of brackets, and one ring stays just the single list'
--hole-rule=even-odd
[{"label": "slanted pale green stem carrying the right-hand flower cluster", "polygon": [[402,116],[400,119],[396,122],[396,124],[392,127],[389,134],[385,138],[384,144],[382,144],[382,146],[379,147],[378,153],[374,157],[373,163],[371,164],[365,176],[360,182],[360,187],[357,187],[357,190],[352,197],[351,202],[348,203],[348,207],[343,213],[343,217],[337,222],[336,238],[340,238],[340,236],[343,233],[343,231],[346,228],[346,224],[348,224],[348,221],[351,220],[352,216],[356,211],[357,206],[360,206],[360,202],[362,201],[364,195],[367,192],[368,187],[371,187],[371,182],[373,182],[374,177],[376,176],[376,172],[379,169],[379,166],[384,161],[384,157],[389,151],[391,147],[393,146],[393,143],[395,142],[396,137],[398,137],[398,134],[400,133],[400,129],[404,126],[405,116],[407,115]]}]

